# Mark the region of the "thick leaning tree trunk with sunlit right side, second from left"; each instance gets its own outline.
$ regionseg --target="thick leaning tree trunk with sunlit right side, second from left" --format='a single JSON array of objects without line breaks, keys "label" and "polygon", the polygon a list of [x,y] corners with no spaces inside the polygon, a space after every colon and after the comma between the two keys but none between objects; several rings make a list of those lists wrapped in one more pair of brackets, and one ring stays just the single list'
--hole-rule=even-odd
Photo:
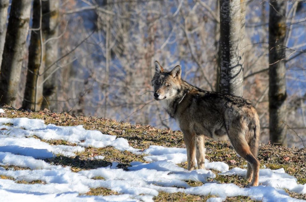
[{"label": "thick leaning tree trunk with sunlit right side, second from left", "polygon": [[15,107],[24,46],[29,30],[32,0],[13,0],[3,50],[0,105]]}]

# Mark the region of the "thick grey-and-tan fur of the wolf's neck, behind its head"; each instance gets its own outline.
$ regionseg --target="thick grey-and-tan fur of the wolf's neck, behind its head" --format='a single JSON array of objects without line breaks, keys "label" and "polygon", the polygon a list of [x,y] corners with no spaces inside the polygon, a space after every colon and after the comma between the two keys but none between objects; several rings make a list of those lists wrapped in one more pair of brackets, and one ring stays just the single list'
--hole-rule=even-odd
[{"label": "thick grey-and-tan fur of the wolf's neck, behind its head", "polygon": [[162,105],[168,114],[175,118],[175,113],[177,111],[177,106],[184,100],[186,94],[194,87],[184,80],[181,80],[180,89],[177,89],[177,94],[172,99],[162,100]]}]

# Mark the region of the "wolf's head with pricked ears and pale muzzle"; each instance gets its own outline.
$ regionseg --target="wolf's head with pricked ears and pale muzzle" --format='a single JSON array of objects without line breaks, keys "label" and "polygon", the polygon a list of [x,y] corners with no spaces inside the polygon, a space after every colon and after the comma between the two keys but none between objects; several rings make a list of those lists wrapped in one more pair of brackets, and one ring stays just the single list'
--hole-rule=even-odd
[{"label": "wolf's head with pricked ears and pale muzzle", "polygon": [[177,65],[171,71],[162,68],[155,61],[155,75],[152,79],[154,99],[157,101],[173,99],[181,89],[181,67]]}]

